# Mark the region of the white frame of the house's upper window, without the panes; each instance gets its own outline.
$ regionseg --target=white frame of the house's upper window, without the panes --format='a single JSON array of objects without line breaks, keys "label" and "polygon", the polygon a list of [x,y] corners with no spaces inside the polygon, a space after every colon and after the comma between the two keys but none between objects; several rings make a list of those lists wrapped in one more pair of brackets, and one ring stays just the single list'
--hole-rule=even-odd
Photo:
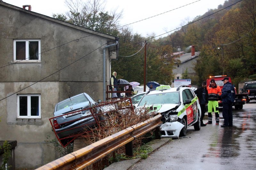
[{"label": "white frame of the house's upper window, without the panes", "polygon": [[[26,59],[25,60],[16,60],[16,42],[25,41],[26,42]],[[38,60],[29,60],[29,41],[38,41]],[[41,63],[41,40],[40,39],[23,39],[23,40],[13,40],[13,62],[18,63]]]}]

